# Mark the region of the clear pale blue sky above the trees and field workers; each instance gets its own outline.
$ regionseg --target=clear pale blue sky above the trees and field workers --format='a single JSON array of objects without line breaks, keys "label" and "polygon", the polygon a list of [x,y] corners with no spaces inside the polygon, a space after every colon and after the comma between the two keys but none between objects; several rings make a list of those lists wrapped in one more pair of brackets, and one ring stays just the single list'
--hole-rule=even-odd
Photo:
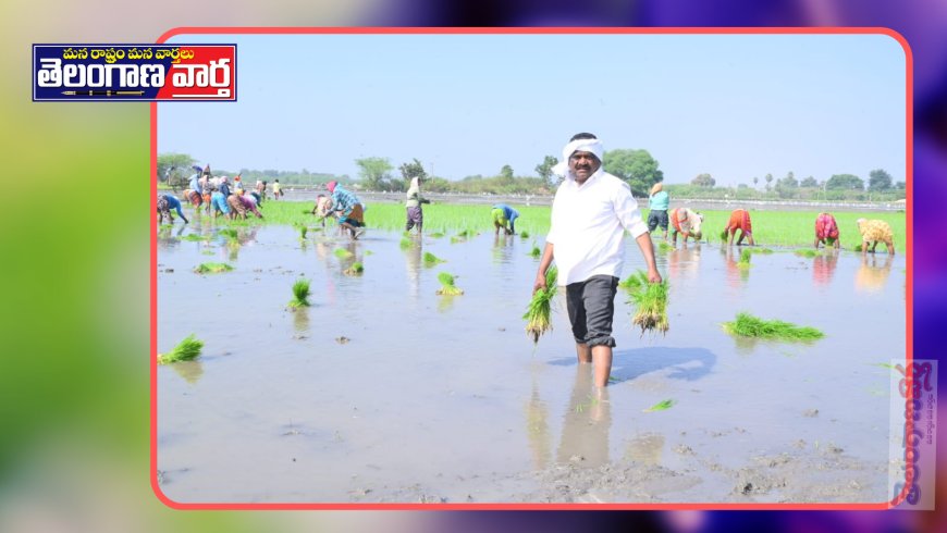
[{"label": "clear pale blue sky above the trees and field workers", "polygon": [[182,35],[236,42],[234,103],[159,103],[158,151],[211,168],[533,175],[592,132],[666,183],[906,175],[906,57],[884,35]]}]

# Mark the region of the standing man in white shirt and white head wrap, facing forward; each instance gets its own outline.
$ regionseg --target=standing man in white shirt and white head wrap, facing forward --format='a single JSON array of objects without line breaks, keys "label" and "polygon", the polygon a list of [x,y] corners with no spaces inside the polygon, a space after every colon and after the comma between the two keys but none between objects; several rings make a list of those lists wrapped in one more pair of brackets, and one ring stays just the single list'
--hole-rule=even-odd
[{"label": "standing man in white shirt and white head wrap, facing forward", "polygon": [[648,280],[661,283],[648,226],[628,184],[602,170],[602,142],[577,134],[554,168],[563,181],[552,207],[552,223],[536,274],[533,293],[545,288],[545,272],[555,259],[579,363],[593,363],[595,385],[604,387],[612,371],[612,318],[622,275],[625,232],[631,234],[648,266]]}]

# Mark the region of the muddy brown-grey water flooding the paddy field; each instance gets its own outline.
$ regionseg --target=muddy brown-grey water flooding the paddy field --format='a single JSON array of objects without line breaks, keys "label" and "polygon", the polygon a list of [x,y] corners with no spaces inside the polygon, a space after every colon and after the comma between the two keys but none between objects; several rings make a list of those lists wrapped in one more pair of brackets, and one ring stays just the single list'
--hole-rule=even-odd
[{"label": "muddy brown-grey water flooding the paddy field", "polygon": [[[290,227],[229,246],[163,233],[158,347],[194,332],[196,362],[158,369],[161,488],[186,503],[882,501],[888,379],[905,355],[905,260],[659,253],[671,331],[640,337],[616,299],[614,383],[575,361],[565,302],[524,333],[532,240],[452,244]],[[625,272],[640,266],[628,239]],[[337,248],[353,253],[339,259]],[[422,253],[446,260],[428,266]],[[734,257],[737,256],[737,257]],[[224,274],[192,272],[229,262]],[[343,271],[361,261],[365,273]],[[436,274],[463,296],[443,297]],[[290,311],[311,281],[312,307]],[[737,342],[739,311],[813,325],[811,344]],[[673,399],[664,411],[643,412]]]}]

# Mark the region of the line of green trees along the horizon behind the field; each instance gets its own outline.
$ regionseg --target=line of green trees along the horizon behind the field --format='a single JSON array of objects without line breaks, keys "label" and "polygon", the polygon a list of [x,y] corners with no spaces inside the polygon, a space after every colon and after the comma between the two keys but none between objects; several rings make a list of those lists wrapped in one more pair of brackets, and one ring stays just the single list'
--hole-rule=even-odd
[{"label": "line of green trees along the horizon behind the field", "polygon": [[[603,159],[605,171],[627,182],[637,197],[647,197],[655,183],[664,181],[664,173],[659,168],[659,162],[651,157],[648,150],[608,150]],[[184,187],[187,185],[188,176],[194,173],[192,166],[195,162],[193,157],[185,153],[160,154],[158,157],[159,179],[175,188]],[[355,164],[358,166],[358,179],[353,179],[347,175],[310,173],[306,169],[300,172],[273,169],[262,171],[214,169],[213,173],[216,175],[241,175],[244,181],[261,179],[272,183],[274,179],[280,179],[284,185],[319,185],[336,179],[342,183],[350,183],[360,190],[374,191],[407,190],[413,178],[422,177],[425,178],[425,189],[431,193],[551,195],[562,181],[552,172],[552,168],[557,162],[555,157],[545,156],[542,162],[533,169],[536,174],[530,176],[517,176],[513,168],[506,164],[500,169],[496,175],[471,175],[459,181],[448,181],[441,176],[430,175],[417,158],[402,163],[397,168],[388,158],[357,159]],[[871,198],[871,194],[875,194],[877,198],[898,199],[905,197],[905,183],[893,183],[890,174],[886,171],[877,169],[872,171],[869,176],[868,188],[865,188],[864,182],[853,174],[835,174],[824,182],[819,182],[813,176],[798,181],[792,172],[779,179],[774,179],[772,174],[766,174],[763,178],[765,182],[764,191],[757,197],[814,199],[820,198],[820,191],[822,199],[862,199],[863,196],[860,196],[859,193],[865,191],[869,193],[866,198]],[[678,197],[742,197],[752,195],[751,190],[755,190],[760,178],[753,177],[752,183],[752,189],[749,184],[740,184],[737,187],[716,187],[716,179],[708,173],[702,173],[691,179],[690,186],[675,186],[675,190]],[[829,191],[833,191],[832,195]],[[836,194],[839,191],[843,194]]]}]

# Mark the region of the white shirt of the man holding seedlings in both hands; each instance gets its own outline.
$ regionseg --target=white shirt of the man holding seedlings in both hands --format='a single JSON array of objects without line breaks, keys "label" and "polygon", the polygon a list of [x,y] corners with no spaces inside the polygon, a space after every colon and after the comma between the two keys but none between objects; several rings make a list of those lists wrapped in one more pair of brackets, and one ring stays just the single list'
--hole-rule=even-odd
[{"label": "white shirt of the man holding seedlings in both hands", "polygon": [[628,184],[599,168],[578,185],[569,172],[556,190],[545,238],[554,245],[558,284],[594,275],[620,277],[626,230],[636,238],[648,232]]}]

